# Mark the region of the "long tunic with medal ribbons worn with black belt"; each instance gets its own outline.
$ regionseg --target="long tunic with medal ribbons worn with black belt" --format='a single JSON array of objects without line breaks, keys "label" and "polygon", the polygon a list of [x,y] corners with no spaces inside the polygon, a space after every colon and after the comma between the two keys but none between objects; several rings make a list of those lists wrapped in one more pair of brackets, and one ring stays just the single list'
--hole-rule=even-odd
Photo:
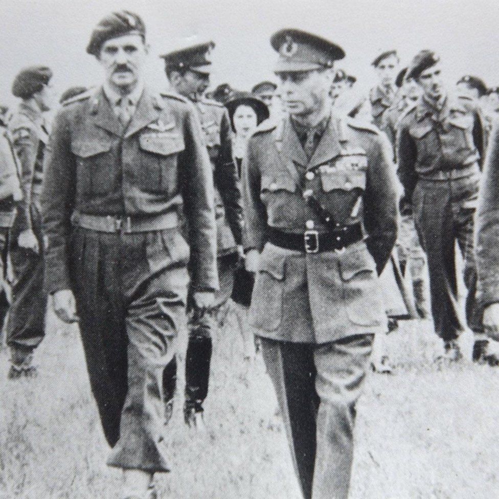
[{"label": "long tunic with medal ribbons worn with black belt", "polygon": [[[259,335],[282,341],[327,343],[385,329],[377,272],[397,231],[395,170],[389,144],[374,127],[331,117],[310,161],[289,118],[250,139],[243,167],[244,245],[261,251],[250,308]],[[344,251],[306,254],[267,242],[266,228],[303,233],[313,221],[286,164],[304,175],[340,225],[360,223],[365,240]]]}]

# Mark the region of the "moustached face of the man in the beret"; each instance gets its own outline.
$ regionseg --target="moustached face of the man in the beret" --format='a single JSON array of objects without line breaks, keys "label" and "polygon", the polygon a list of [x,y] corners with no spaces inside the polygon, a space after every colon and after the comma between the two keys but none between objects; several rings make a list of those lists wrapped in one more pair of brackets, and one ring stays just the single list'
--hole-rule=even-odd
[{"label": "moustached face of the man in the beret", "polygon": [[142,80],[148,47],[140,35],[111,38],[102,44],[99,62],[107,82],[121,91],[130,91]]}]

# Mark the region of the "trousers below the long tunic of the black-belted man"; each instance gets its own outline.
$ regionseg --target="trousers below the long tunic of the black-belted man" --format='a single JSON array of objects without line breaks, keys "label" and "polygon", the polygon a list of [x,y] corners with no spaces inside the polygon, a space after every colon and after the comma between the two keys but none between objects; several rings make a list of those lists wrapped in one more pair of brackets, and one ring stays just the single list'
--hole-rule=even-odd
[{"label": "trousers below the long tunic of the black-belted man", "polygon": [[322,345],[260,339],[303,496],[347,499],[355,403],[374,335]]}]

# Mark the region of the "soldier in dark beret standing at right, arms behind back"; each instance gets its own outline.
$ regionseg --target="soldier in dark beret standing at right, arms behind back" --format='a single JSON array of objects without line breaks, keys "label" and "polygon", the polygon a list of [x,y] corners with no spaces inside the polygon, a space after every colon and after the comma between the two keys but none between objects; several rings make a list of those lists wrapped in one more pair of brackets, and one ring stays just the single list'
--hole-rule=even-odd
[{"label": "soldier in dark beret standing at right, arms behind back", "polygon": [[468,96],[449,92],[442,81],[440,58],[432,51],[417,54],[406,78],[414,78],[423,95],[398,125],[398,174],[407,201],[412,201],[416,228],[428,259],[435,331],[444,357],[458,360],[457,343],[466,325],[458,304],[455,244],[463,260],[468,288],[466,320],[478,335],[473,357],[486,346],[480,339],[473,258],[473,218],[483,157],[480,110]]}]

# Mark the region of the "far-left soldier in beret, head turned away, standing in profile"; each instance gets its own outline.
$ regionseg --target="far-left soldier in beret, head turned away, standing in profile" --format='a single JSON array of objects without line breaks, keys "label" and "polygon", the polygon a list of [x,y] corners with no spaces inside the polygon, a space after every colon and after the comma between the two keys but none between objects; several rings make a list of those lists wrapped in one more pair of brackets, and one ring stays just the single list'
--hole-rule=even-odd
[{"label": "far-left soldier in beret, head turned away, standing in profile", "polygon": [[37,374],[32,365],[33,352],[45,334],[47,294],[43,289],[40,192],[43,155],[49,137],[44,113],[56,104],[51,79],[49,67],[32,66],[21,70],[12,84],[12,93],[21,102],[9,121],[9,133],[19,159],[23,195],[10,239],[14,280],[7,322],[9,379]]}]

